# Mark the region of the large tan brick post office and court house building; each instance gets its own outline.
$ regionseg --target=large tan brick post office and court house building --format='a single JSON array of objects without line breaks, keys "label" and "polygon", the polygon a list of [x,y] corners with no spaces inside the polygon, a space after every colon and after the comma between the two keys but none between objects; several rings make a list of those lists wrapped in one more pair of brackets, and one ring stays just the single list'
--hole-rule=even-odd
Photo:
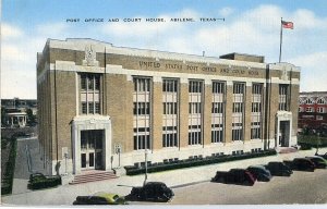
[{"label": "large tan brick post office and court house building", "polygon": [[37,58],[49,173],[144,163],[145,150],[148,161],[165,162],[296,145],[300,69],[292,64],[93,39],[49,39]]}]

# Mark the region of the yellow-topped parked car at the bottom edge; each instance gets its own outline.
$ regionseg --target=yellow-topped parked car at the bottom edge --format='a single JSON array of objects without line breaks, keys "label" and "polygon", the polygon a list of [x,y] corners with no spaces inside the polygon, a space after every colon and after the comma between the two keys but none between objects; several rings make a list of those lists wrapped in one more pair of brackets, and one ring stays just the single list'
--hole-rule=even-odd
[{"label": "yellow-topped parked car at the bottom edge", "polygon": [[123,197],[113,193],[99,192],[89,196],[77,196],[73,205],[126,205]]}]

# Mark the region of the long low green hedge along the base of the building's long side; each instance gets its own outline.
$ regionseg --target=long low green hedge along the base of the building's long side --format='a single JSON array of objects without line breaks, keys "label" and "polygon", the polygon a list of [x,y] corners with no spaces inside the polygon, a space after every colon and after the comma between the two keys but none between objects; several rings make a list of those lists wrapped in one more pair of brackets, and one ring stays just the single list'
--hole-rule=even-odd
[{"label": "long low green hedge along the base of the building's long side", "polygon": [[[167,171],[167,170],[174,170],[174,169],[184,169],[184,168],[191,168],[191,167],[198,167],[198,165],[206,165],[206,164],[214,164],[219,162],[228,162],[228,161],[234,161],[234,160],[243,160],[243,159],[250,159],[250,158],[257,158],[257,157],[265,157],[265,156],[272,156],[276,155],[275,149],[265,150],[261,152],[254,152],[254,153],[243,153],[238,156],[218,156],[218,157],[206,157],[203,159],[185,159],[185,160],[179,160],[173,161],[169,163],[160,163],[160,164],[149,164],[147,167],[148,173],[159,172],[159,171]],[[135,167],[135,165],[128,165],[124,167],[126,170],[126,175],[137,175],[145,173],[145,167]]]}]

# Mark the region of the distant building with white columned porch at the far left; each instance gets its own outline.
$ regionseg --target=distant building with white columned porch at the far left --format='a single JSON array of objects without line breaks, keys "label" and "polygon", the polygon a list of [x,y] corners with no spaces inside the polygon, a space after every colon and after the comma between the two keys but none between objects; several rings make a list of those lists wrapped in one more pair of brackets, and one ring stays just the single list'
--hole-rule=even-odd
[{"label": "distant building with white columned porch at the far left", "polygon": [[27,110],[31,109],[33,115],[37,114],[36,99],[1,99],[1,109],[4,115],[1,116],[1,125],[7,127],[25,127],[27,124]]}]

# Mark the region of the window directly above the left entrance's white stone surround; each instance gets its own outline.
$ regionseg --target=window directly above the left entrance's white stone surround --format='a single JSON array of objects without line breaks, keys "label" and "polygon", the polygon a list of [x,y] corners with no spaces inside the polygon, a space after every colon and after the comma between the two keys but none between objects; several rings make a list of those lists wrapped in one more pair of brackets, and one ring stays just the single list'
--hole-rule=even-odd
[{"label": "window directly above the left entrance's white stone surround", "polygon": [[81,113],[100,114],[100,75],[83,73],[81,77]]}]

